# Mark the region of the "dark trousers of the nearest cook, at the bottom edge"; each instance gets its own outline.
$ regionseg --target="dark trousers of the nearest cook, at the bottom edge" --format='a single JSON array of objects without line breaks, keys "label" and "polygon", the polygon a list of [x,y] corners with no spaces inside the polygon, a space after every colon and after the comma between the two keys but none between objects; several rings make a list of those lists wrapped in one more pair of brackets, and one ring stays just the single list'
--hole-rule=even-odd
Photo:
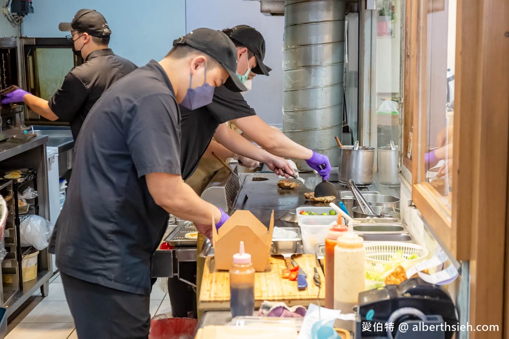
[{"label": "dark trousers of the nearest cook, at the bottom edge", "polygon": [[150,296],[60,275],[79,339],[148,338]]}]

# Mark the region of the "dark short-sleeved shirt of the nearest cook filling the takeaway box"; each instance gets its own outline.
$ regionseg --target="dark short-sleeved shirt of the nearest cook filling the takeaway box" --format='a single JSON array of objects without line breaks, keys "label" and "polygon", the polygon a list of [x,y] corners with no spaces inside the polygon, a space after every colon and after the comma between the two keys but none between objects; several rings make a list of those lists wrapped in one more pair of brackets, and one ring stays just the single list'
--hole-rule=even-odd
[{"label": "dark short-sleeved shirt of the nearest cook filling the takeaway box", "polygon": [[97,101],[76,142],[68,195],[55,225],[56,265],[77,279],[148,295],[151,256],[168,213],[145,175],[180,175],[174,90],[151,60]]}]

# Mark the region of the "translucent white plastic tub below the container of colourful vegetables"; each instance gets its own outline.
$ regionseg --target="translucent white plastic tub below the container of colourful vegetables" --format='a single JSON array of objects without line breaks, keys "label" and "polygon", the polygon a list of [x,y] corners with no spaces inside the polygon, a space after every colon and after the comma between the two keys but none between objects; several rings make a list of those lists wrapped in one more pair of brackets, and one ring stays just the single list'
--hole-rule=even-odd
[{"label": "translucent white plastic tub below the container of colourful vegetables", "polygon": [[315,254],[315,246],[325,243],[325,237],[337,215],[308,215],[299,221],[305,254]]}]

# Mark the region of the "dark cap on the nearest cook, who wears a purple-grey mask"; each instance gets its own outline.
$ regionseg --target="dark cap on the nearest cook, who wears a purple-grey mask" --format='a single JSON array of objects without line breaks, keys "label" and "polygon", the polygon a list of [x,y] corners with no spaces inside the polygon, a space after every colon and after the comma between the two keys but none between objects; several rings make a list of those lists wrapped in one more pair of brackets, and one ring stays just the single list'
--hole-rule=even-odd
[{"label": "dark cap on the nearest cook, who wears a purple-grey mask", "polygon": [[210,28],[197,28],[183,37],[176,39],[173,45],[183,44],[202,51],[217,60],[227,70],[230,77],[224,82],[224,87],[243,92],[247,88],[237,77],[237,49],[227,35]]}]

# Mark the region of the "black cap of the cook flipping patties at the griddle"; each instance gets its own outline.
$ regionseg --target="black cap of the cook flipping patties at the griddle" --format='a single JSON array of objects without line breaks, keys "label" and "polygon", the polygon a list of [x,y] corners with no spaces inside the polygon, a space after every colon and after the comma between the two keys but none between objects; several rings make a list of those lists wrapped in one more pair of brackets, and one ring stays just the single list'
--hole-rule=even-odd
[{"label": "black cap of the cook flipping patties at the griddle", "polygon": [[[246,46],[256,57],[257,66],[252,69],[256,74],[269,75],[272,69],[263,63],[265,58],[265,39],[262,34],[248,25],[238,25],[231,29],[225,29],[230,39],[235,39]],[[224,32],[224,30],[223,30]]]}]

